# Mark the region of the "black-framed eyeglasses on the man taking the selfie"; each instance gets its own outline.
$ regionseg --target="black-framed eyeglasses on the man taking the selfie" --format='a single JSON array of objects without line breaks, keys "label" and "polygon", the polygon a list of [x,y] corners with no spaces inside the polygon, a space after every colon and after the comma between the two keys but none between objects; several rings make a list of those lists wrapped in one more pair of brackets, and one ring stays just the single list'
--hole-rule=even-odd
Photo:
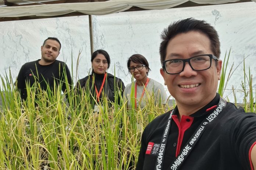
[{"label": "black-framed eyeglasses on the man taking the selfie", "polygon": [[163,69],[168,74],[181,73],[185,68],[185,63],[188,62],[192,70],[202,71],[211,67],[211,59],[218,61],[218,58],[212,54],[204,54],[194,56],[188,59],[171,59],[163,61]]}]

